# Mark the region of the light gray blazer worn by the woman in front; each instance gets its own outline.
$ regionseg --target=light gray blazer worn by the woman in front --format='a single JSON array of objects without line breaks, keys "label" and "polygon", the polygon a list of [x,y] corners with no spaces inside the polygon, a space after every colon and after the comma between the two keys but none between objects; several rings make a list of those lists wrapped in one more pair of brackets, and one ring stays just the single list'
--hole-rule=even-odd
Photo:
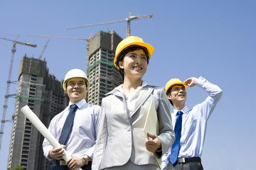
[{"label": "light gray blazer worn by the woman in front", "polygon": [[113,89],[102,99],[100,126],[92,161],[92,169],[105,169],[112,166],[122,166],[129,160],[138,165],[155,164],[159,166],[154,155],[146,150],[144,145],[144,123],[151,100],[154,100],[157,118],[159,120],[159,139],[161,156],[171,147],[175,140],[174,128],[171,124],[169,100],[164,88],[146,85],[139,92],[138,100],[130,118],[121,91]]}]

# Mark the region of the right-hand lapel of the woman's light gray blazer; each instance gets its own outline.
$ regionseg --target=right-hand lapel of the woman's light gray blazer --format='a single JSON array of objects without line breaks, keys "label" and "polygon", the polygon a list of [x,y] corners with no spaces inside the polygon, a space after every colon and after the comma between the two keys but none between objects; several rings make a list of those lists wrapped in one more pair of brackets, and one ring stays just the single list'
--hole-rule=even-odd
[{"label": "right-hand lapel of the woman's light gray blazer", "polygon": [[149,88],[148,86],[146,88],[142,88],[142,90],[139,92],[138,100],[136,102],[136,106],[134,108],[134,111],[132,111],[130,118],[132,118],[132,115],[138,111],[138,109],[142,106],[144,101],[146,101],[146,98],[149,97],[149,95],[152,93],[153,89]]}]

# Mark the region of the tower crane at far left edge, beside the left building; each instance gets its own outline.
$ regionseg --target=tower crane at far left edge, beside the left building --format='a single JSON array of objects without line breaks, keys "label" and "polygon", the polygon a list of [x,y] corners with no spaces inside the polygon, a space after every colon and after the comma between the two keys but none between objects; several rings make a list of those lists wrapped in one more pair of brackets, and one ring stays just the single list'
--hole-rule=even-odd
[{"label": "tower crane at far left edge, beside the left building", "polygon": [[12,95],[9,95],[9,89],[10,89],[10,84],[11,84],[11,72],[12,72],[12,68],[13,68],[13,65],[14,65],[14,53],[16,52],[16,44],[28,45],[28,46],[31,46],[31,47],[36,47],[36,45],[30,44],[28,42],[18,42],[17,40],[10,40],[10,39],[7,39],[7,38],[2,38],[2,37],[0,37],[0,38],[3,39],[3,40],[9,40],[11,42],[14,42],[14,45],[13,45],[12,50],[11,50],[11,52],[12,52],[12,54],[11,54],[11,64],[10,64],[10,67],[9,67],[9,75],[8,75],[8,80],[7,80],[6,95],[4,96],[4,98],[5,98],[5,100],[4,100],[4,112],[3,112],[3,116],[2,116],[2,120],[1,120],[1,129],[0,129],[0,150],[1,150],[1,141],[2,141],[3,134],[4,134],[4,123],[6,122],[5,117],[6,117],[6,109],[7,109],[8,98],[9,98],[9,96],[12,96]]}]

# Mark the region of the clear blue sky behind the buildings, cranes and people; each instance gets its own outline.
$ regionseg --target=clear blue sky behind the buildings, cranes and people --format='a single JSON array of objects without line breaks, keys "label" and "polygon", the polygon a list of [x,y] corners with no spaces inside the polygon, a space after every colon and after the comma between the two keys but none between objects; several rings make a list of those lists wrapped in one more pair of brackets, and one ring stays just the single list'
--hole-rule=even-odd
[{"label": "clear blue sky behind the buildings, cranes and people", "polygon": [[[89,38],[100,30],[115,30],[126,37],[127,23],[66,30],[72,26],[123,20],[153,14],[131,22],[131,35],[155,47],[144,81],[165,86],[171,78],[185,81],[203,76],[223,89],[223,96],[208,120],[202,162],[205,169],[252,169],[256,159],[256,1],[163,0],[163,1],[0,1],[0,37],[38,45],[16,45],[12,81],[18,80],[21,58],[38,58],[48,39],[42,60],[58,80],[73,68],[85,70],[86,41],[37,38],[54,35]],[[11,60],[11,41],[0,39],[0,106],[4,106]],[[11,84],[9,94],[16,94]],[[188,87],[188,108],[201,103],[207,93]],[[246,107],[246,108],[245,108]],[[171,107],[172,108],[172,107]],[[9,98],[6,120],[15,110]],[[3,108],[0,108],[2,118]],[[5,123],[0,151],[6,169],[12,123]]]}]

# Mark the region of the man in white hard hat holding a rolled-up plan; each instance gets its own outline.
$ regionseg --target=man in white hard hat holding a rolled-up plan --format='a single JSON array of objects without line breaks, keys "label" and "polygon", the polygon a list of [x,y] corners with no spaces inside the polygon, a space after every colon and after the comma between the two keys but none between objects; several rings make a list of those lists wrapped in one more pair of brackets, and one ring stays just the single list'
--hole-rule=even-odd
[{"label": "man in white hard hat holding a rolled-up plan", "polygon": [[65,162],[63,148],[53,148],[45,139],[43,154],[53,160],[53,170],[73,170],[81,167],[91,169],[97,128],[100,121],[100,106],[85,101],[90,82],[85,72],[71,69],[63,82],[63,89],[70,99],[68,107],[55,115],[48,130],[71,155]]}]

